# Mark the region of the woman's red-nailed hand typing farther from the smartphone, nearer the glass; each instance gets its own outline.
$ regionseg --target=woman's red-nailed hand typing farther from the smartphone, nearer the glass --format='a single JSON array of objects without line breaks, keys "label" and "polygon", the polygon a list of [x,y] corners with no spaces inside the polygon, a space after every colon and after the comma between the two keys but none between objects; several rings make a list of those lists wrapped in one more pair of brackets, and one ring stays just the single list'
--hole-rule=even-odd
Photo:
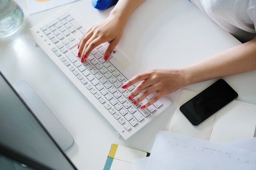
[{"label": "woman's red-nailed hand typing farther from the smartphone, nearer the glass", "polygon": [[116,15],[110,15],[105,20],[91,26],[83,34],[78,45],[79,52],[77,56],[81,57],[81,62],[85,61],[95,47],[104,42],[109,42],[108,48],[103,55],[103,58],[108,60],[123,35],[125,24],[121,18],[117,18]]}]

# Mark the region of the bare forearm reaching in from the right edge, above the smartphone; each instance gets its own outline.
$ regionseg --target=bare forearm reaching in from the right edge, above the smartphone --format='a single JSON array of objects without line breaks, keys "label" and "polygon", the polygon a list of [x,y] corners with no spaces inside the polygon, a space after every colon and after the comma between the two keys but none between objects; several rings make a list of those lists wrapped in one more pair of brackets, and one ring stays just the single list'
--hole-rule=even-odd
[{"label": "bare forearm reaching in from the right edge, above the smartphone", "polygon": [[186,85],[256,69],[256,38],[182,69]]}]

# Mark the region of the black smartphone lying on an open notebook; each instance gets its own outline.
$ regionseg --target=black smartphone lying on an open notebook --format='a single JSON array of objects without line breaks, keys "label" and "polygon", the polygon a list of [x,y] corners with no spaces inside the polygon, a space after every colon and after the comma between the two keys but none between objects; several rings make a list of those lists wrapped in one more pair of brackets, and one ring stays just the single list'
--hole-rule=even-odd
[{"label": "black smartphone lying on an open notebook", "polygon": [[198,126],[237,97],[236,91],[223,79],[219,79],[180,106],[180,111],[193,126]]}]

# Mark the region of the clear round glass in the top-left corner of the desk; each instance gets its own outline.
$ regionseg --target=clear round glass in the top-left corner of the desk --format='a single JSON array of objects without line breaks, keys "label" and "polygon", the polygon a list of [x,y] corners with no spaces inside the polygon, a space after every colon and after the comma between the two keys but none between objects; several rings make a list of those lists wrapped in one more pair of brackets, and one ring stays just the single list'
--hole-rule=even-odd
[{"label": "clear round glass in the top-left corner of the desk", "polygon": [[24,14],[13,0],[0,0],[0,39],[7,38],[20,29]]}]

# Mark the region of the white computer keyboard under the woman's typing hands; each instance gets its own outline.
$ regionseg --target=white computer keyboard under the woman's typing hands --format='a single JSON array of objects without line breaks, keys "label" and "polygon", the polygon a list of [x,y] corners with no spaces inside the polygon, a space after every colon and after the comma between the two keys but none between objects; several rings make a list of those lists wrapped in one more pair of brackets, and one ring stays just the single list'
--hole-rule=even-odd
[{"label": "white computer keyboard under the woman's typing hands", "polygon": [[121,86],[132,75],[116,59],[115,56],[123,57],[119,51],[112,53],[107,62],[103,59],[106,44],[95,48],[81,63],[80,58],[76,57],[77,46],[82,34],[89,28],[81,23],[86,22],[74,9],[68,8],[34,26],[29,34],[117,132],[128,139],[172,102],[163,97],[148,108],[141,109],[139,106],[153,97],[153,94],[137,105],[132,103],[134,100],[128,100],[135,86],[127,89]]}]

